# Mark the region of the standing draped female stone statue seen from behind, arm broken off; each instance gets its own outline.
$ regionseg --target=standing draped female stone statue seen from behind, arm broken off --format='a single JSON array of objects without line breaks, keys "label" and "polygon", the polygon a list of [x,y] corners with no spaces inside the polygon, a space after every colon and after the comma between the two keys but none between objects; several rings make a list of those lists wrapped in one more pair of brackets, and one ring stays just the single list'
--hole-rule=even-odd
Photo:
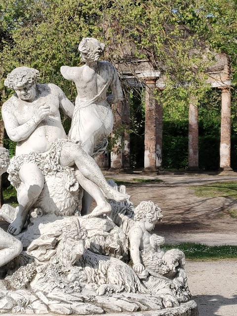
[{"label": "standing draped female stone statue seen from behind, arm broken off", "polygon": [[[83,38],[79,44],[81,67],[62,66],[65,79],[73,80],[78,96],[75,102],[69,139],[81,141],[81,147],[92,157],[103,153],[108,145],[107,136],[113,129],[111,104],[122,101],[122,89],[117,70],[108,61],[99,61],[105,45],[93,38]],[[107,90],[112,94],[107,96]],[[84,192],[82,215],[88,214],[91,199]]]}]

